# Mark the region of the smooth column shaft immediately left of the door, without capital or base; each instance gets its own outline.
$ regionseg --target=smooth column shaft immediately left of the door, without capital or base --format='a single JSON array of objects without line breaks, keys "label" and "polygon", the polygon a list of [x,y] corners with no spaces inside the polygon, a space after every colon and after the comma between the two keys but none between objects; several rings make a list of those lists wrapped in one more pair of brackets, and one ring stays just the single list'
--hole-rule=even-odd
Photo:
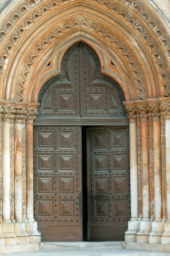
[{"label": "smooth column shaft immediately left of the door, without capital or base", "polygon": [[33,124],[26,125],[26,218],[34,219]]}]

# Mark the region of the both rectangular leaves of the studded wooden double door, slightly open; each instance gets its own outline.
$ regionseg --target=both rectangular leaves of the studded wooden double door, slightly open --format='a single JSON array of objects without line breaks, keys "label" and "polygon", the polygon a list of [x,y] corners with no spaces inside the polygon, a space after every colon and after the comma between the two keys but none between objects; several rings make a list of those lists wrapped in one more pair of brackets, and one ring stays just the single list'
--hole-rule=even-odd
[{"label": "both rectangular leaves of the studded wooden double door, slightly open", "polygon": [[127,127],[34,129],[42,241],[120,241],[130,218]]}]

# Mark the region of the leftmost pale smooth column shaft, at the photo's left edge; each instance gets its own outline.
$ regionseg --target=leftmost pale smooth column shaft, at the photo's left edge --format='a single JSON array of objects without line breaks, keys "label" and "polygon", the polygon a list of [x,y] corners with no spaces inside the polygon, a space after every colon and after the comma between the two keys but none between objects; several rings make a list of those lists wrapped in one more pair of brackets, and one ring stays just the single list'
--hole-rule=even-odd
[{"label": "leftmost pale smooth column shaft, at the photo's left edge", "polygon": [[10,123],[3,122],[2,160],[3,160],[3,221],[10,220]]}]

